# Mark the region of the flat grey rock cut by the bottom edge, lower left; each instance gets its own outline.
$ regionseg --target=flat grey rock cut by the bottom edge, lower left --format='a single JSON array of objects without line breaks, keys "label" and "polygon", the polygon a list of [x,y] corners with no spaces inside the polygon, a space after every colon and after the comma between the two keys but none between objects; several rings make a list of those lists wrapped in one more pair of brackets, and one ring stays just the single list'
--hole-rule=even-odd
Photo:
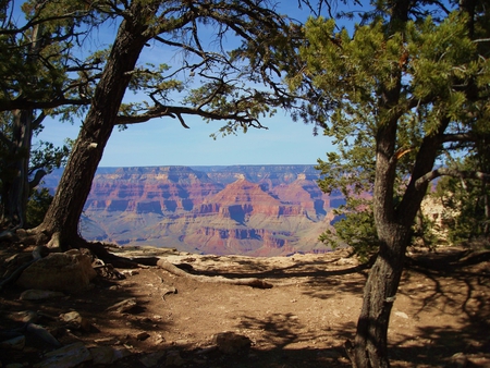
[{"label": "flat grey rock cut by the bottom edge, lower left", "polygon": [[63,346],[45,355],[46,359],[36,364],[36,368],[71,368],[91,359],[90,352],[82,342]]}]

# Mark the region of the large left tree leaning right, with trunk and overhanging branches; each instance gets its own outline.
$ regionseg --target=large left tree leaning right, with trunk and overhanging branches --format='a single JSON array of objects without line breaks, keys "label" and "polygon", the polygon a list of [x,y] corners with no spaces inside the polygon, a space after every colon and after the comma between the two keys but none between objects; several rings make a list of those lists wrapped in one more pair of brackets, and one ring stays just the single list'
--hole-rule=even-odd
[{"label": "large left tree leaning right, with trunk and overhanging branches", "polygon": [[[220,132],[229,134],[262,127],[259,118],[289,98],[265,47],[284,42],[286,20],[267,0],[105,0],[89,7],[119,28],[53,201],[32,230],[61,249],[85,243],[79,217],[114,126],[164,118],[186,127],[186,115],[199,115],[224,121]],[[138,63],[149,48],[173,64]],[[245,60],[250,54],[259,60],[254,69]],[[147,98],[125,102],[128,90]]]}]

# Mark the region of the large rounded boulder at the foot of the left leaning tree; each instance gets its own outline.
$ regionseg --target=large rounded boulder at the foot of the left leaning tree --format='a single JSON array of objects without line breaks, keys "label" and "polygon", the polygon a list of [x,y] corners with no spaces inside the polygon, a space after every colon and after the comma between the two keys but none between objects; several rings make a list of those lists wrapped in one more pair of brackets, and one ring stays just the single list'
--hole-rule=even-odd
[{"label": "large rounded boulder at the foot of the left leaning tree", "polygon": [[91,258],[77,249],[52,253],[27,267],[17,280],[25,289],[79,292],[87,290],[97,275]]}]

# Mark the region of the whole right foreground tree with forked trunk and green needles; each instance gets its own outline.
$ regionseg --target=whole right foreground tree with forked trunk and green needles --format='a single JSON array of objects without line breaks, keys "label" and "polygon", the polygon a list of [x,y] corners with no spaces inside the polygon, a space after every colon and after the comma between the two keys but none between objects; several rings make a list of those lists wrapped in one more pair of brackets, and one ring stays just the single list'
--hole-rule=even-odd
[{"label": "whole right foreground tree with forked trunk and green needles", "polygon": [[430,183],[488,177],[446,163],[490,134],[489,5],[377,1],[352,34],[333,19],[311,17],[298,66],[284,66],[291,88],[314,97],[297,118],[323,125],[339,148],[320,160],[322,187],[372,193],[379,250],[346,344],[354,367],[390,365],[390,312]]}]

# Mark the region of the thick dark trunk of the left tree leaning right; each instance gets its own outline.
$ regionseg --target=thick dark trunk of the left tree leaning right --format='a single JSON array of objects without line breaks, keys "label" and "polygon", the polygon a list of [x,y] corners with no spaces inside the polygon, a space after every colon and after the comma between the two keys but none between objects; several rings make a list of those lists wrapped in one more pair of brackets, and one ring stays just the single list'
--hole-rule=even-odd
[{"label": "thick dark trunk of the left tree leaning right", "polygon": [[156,2],[133,2],[132,17],[120,25],[91,107],[81,127],[73,151],[61,176],[53,201],[36,231],[53,236],[61,249],[76,245],[78,221],[91,188],[97,167],[112,133],[124,93],[148,35],[146,21],[158,9]]}]

